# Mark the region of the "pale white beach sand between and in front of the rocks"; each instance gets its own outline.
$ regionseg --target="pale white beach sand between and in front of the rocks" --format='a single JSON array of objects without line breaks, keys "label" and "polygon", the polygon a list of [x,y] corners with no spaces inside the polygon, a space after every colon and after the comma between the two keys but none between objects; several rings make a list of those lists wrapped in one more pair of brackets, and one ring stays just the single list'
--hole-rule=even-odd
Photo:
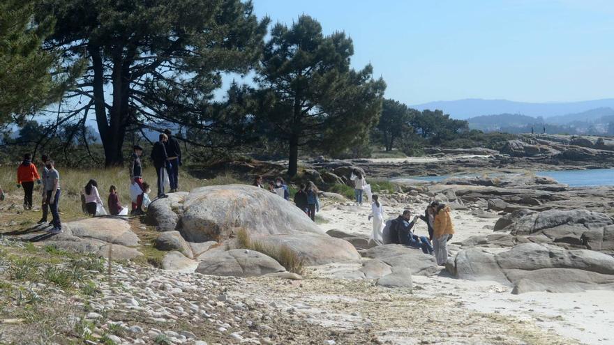
[{"label": "pale white beach sand between and in front of the rocks", "polygon": [[[326,204],[326,202],[324,202]],[[396,217],[403,208],[423,214],[426,204],[397,205],[384,208],[387,219]],[[328,204],[322,207],[320,216],[326,221],[320,224],[324,230],[338,229],[346,233],[364,236],[372,231],[367,219],[370,213],[368,203],[356,206]],[[470,211],[454,211],[456,225],[455,241],[475,235],[493,233],[485,229],[492,226],[496,219],[474,217]],[[426,224],[418,221],[417,235],[427,235]],[[338,267],[351,269],[354,267]],[[355,268],[354,268],[355,269]],[[546,293],[533,292],[512,295],[511,288],[496,282],[471,282],[440,276],[414,276],[414,289],[417,296],[435,298],[446,296],[462,303],[467,309],[486,313],[500,313],[516,316],[535,323],[541,328],[558,335],[577,339],[583,344],[614,344],[614,291],[585,291],[583,293]]]}]

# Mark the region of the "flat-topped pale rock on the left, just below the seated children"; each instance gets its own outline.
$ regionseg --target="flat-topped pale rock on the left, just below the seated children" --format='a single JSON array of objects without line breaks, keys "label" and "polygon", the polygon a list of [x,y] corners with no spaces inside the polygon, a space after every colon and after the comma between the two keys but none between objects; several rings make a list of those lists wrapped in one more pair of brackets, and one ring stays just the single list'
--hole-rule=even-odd
[{"label": "flat-topped pale rock on the left, just below the seated children", "polygon": [[64,226],[79,238],[93,238],[126,247],[139,245],[139,238],[130,230],[130,224],[119,218],[87,218],[65,223]]}]

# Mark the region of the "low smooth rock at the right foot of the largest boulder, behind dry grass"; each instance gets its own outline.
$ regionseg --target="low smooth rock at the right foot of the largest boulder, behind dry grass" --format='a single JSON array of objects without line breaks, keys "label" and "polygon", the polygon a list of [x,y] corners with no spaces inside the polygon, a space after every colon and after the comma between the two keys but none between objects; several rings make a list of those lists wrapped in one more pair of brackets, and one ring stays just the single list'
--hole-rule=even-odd
[{"label": "low smooth rock at the right foot of the largest boulder, behind dry grass", "polygon": [[346,240],[326,234],[299,233],[293,235],[271,235],[253,238],[263,245],[286,246],[304,260],[306,266],[327,263],[345,263],[360,260],[356,248]]}]

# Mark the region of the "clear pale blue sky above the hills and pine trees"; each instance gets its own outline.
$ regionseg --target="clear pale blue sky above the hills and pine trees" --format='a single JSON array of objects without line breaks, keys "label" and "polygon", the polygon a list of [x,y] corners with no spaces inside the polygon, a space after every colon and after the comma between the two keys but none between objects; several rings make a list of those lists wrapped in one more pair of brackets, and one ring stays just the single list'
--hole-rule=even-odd
[{"label": "clear pale blue sky above the hills and pine trees", "polygon": [[614,97],[611,0],[253,0],[259,17],[314,17],[345,31],[352,66],[374,67],[407,105],[464,98]]}]

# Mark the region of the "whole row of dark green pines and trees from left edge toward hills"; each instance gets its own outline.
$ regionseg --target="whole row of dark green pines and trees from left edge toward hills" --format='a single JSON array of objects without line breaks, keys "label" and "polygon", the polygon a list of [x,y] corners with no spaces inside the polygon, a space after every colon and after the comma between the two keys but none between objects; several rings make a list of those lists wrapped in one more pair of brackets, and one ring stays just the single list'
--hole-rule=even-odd
[{"label": "whole row of dark green pines and trees from left edge toward hills", "polygon": [[[301,152],[370,141],[410,152],[467,131],[440,111],[384,100],[373,67],[350,66],[344,32],[324,35],[308,15],[269,24],[240,0],[3,1],[0,121],[27,129],[22,144],[87,146],[93,117],[107,167],[144,128],[172,123],[185,144],[211,151],[283,150],[290,176]],[[227,73],[254,77],[216,100]]]}]

